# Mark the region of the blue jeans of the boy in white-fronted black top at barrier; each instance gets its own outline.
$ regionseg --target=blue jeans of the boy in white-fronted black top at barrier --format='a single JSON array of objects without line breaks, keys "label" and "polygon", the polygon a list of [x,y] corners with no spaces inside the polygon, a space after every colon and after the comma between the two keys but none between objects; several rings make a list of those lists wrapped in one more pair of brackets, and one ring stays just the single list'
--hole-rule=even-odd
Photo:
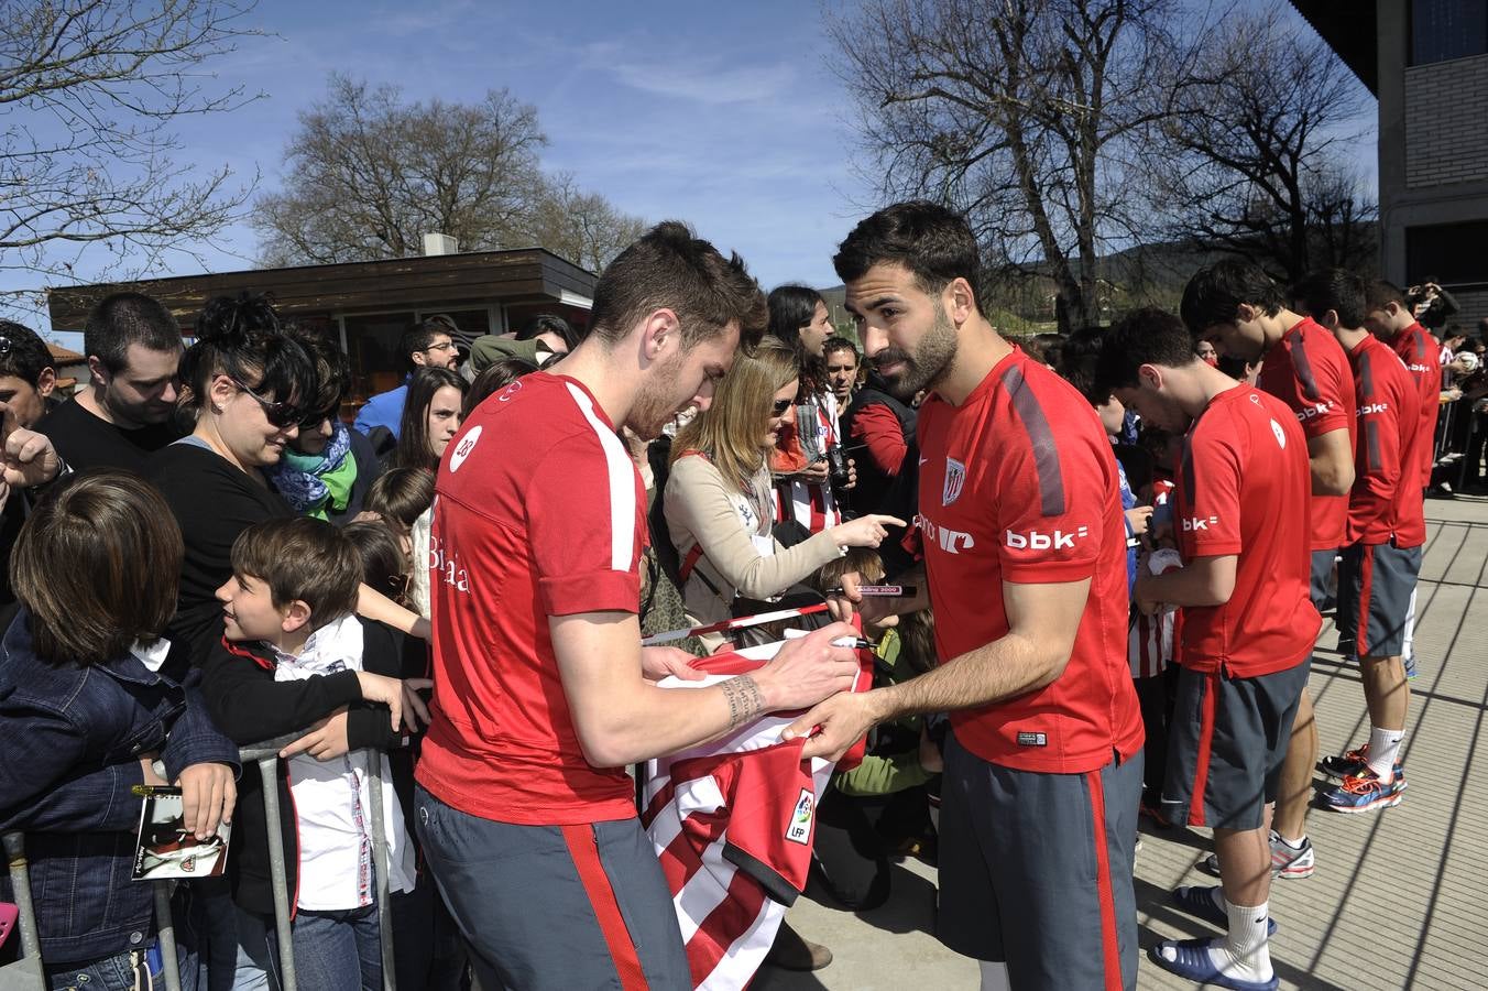
[{"label": "blue jeans of the boy in white-fronted black top at barrier", "polygon": [[[315,991],[382,991],[382,939],[376,906],[295,914],[295,978]],[[234,991],[274,991],[278,934],[272,917],[238,909],[238,973]]]}]

